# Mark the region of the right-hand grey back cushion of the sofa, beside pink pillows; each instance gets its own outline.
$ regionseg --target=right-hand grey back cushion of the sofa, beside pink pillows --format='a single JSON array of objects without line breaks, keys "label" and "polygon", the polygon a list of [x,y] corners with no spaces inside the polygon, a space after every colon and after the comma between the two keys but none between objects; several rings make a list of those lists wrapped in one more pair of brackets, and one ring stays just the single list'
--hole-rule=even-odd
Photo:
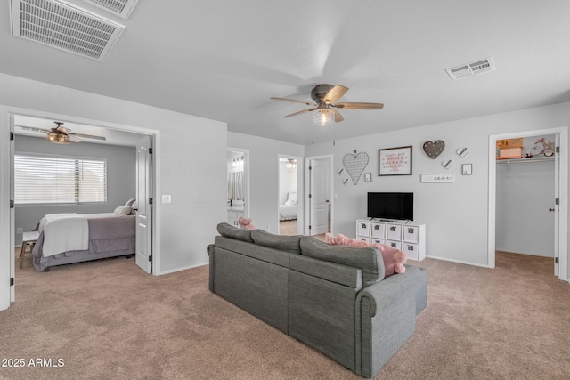
[{"label": "right-hand grey back cushion of the sofa, beside pink pillows", "polygon": [[377,247],[330,246],[311,236],[301,237],[301,255],[360,268],[364,287],[384,279],[384,260]]}]

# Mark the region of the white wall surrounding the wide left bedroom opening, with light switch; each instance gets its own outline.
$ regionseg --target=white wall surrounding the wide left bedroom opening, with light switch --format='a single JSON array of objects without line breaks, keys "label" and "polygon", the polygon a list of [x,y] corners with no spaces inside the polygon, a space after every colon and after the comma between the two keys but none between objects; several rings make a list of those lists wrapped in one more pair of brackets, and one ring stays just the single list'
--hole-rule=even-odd
[{"label": "white wall surrounding the wide left bedroom opening, with light switch", "polygon": [[[159,222],[159,273],[208,263],[206,247],[213,242],[217,222],[225,220],[226,214],[225,123],[0,74],[0,131],[4,136],[10,129],[11,112],[157,133],[154,159],[159,167],[160,193],[154,198],[172,196],[171,204],[155,202],[154,207]],[[0,239],[0,271],[4,271],[12,254],[8,243],[10,142],[2,139],[0,143],[0,238],[4,238]],[[0,272],[0,281],[4,281],[4,272]],[[0,293],[0,310],[7,307],[3,301]]]}]

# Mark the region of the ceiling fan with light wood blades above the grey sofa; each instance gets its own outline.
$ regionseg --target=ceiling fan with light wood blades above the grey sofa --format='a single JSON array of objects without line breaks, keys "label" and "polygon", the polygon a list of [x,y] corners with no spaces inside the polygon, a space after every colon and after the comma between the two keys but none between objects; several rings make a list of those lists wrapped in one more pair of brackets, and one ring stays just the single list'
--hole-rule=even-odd
[{"label": "ceiling fan with light wood blades above the grey sofa", "polygon": [[383,109],[384,104],[382,103],[348,103],[341,102],[337,103],[346,92],[348,87],[344,85],[315,85],[313,90],[311,90],[312,101],[297,101],[296,99],[287,98],[271,98],[275,101],[289,101],[292,103],[302,103],[307,106],[312,106],[312,109],[303,109],[286,115],[284,117],[294,117],[297,115],[304,114],[305,112],[316,111],[314,113],[314,123],[320,125],[326,125],[330,121],[334,120],[335,123],[343,121],[345,118],[340,115],[337,109]]}]

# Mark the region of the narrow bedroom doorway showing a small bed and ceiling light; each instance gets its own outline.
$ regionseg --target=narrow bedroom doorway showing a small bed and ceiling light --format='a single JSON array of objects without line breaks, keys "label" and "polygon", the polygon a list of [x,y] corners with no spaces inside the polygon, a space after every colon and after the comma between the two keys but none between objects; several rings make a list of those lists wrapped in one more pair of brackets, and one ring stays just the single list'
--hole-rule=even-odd
[{"label": "narrow bedroom doorway showing a small bed and ceiling light", "polygon": [[278,215],[280,235],[300,235],[303,233],[303,202],[301,183],[303,158],[279,155],[278,171]]}]

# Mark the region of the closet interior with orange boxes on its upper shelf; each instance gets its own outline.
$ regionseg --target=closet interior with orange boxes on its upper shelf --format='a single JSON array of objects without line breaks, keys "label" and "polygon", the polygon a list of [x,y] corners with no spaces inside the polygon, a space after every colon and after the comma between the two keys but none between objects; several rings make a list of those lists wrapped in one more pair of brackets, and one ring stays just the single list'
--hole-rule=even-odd
[{"label": "closet interior with orange boxes on its upper shelf", "polygon": [[555,138],[497,141],[497,251],[554,257]]}]

